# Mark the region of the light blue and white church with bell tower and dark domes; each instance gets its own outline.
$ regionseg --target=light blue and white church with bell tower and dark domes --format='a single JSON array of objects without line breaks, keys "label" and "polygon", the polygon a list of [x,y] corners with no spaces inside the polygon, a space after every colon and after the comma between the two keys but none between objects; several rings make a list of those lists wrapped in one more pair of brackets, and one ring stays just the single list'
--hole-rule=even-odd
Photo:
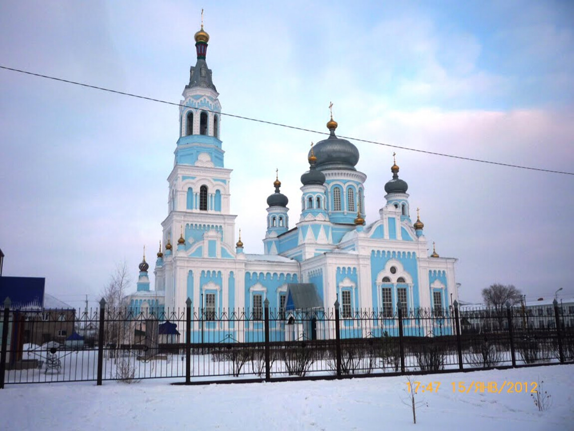
[{"label": "light blue and white church with bell tower and dark domes", "polygon": [[[408,184],[399,177],[396,162],[385,194],[376,192],[384,197],[379,217],[366,223],[367,176],[357,169],[356,146],[337,137],[332,114],[327,139],[311,147],[308,161],[301,161],[306,170],[300,178],[301,211],[293,216],[276,178],[267,214],[261,214],[266,223],[263,254],[243,252],[241,232],[235,240],[236,216],[230,213],[232,170],[224,165],[219,93],[205,61],[209,39],[201,25],[195,34],[197,61],[179,111],[155,286],[150,289],[144,257],[137,292],[128,298],[131,308],[184,309],[189,298],[194,312],[203,310],[207,319],[233,309],[249,310],[259,319],[265,300],[281,316],[305,306],[332,309],[339,300],[340,315],[348,319],[356,309],[391,316],[399,303],[408,311],[438,312],[457,300],[456,259],[439,257],[434,243],[428,254],[424,224],[418,210],[412,222]],[[297,298],[312,303],[297,303]],[[211,341],[247,341],[250,331],[257,330],[250,324],[225,329],[232,333],[220,331]]]}]

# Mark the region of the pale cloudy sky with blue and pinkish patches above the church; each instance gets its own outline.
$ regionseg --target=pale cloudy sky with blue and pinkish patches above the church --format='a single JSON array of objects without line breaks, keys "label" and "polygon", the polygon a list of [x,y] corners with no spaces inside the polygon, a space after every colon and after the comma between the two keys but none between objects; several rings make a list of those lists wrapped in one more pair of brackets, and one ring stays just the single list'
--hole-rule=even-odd
[{"label": "pale cloudy sky with blue and pinkish patches above the church", "polygon": [[[574,172],[574,5],[563,1],[0,3],[0,65],[179,102],[201,8],[223,112],[387,145]],[[262,253],[279,169],[297,220],[309,133],[223,117],[231,209]],[[135,290],[167,215],[178,109],[0,69],[3,275],[73,306],[118,262]],[[356,142],[367,223],[393,147]],[[574,176],[397,149],[460,297],[494,282],[574,297]]]}]

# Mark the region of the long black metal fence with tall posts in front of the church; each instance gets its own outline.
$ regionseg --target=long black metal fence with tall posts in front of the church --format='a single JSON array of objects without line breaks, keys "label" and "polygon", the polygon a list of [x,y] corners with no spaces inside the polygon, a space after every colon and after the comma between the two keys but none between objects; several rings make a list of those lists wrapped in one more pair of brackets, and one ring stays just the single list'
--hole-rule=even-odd
[{"label": "long black metal fence with tall posts in front of the church", "polygon": [[[519,308],[3,310],[5,383],[326,379],[574,361],[574,315]],[[548,316],[546,316],[548,320]]]}]

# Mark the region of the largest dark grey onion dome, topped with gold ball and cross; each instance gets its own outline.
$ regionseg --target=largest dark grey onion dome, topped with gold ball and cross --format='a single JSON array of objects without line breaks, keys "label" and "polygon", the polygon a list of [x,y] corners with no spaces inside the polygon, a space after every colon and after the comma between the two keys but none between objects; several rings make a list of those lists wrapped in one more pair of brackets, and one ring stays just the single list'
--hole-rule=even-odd
[{"label": "largest dark grey onion dome, topped with gold ball and cross", "polygon": [[[317,142],[313,147],[315,156],[317,157],[317,170],[327,169],[348,169],[356,170],[355,165],[359,162],[359,150],[347,139],[338,138],[335,135],[337,128],[336,121],[327,123],[327,128],[331,134],[327,139]],[[311,157],[311,151],[309,151]]]}]

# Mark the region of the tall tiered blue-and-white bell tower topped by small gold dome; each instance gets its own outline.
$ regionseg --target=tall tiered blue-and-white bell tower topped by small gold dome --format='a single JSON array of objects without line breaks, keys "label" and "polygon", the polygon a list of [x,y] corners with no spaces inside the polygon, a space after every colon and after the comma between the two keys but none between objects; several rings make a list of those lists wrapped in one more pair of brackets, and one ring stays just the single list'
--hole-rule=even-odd
[{"label": "tall tiered blue-and-white bell tower topped by small gold dome", "polygon": [[168,177],[168,216],[162,222],[163,243],[177,240],[177,247],[166,248],[165,262],[171,255],[220,258],[235,254],[232,171],[223,163],[221,105],[205,61],[210,35],[203,28],[203,12],[194,38],[197,58],[180,103],[179,139]]}]

